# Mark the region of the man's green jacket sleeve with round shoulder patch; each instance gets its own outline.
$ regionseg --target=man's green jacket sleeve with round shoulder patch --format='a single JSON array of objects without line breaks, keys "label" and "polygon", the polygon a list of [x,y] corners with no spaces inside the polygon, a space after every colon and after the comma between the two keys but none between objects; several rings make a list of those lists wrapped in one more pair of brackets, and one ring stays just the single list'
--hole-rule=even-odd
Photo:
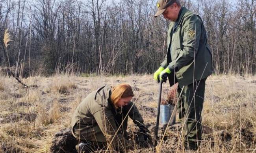
[{"label": "man's green jacket sleeve with round shoulder patch", "polygon": [[200,19],[197,15],[192,15],[184,20],[184,25],[182,25],[183,50],[180,50],[177,58],[168,65],[171,72],[180,70],[183,66],[193,62],[197,55],[202,28]]}]

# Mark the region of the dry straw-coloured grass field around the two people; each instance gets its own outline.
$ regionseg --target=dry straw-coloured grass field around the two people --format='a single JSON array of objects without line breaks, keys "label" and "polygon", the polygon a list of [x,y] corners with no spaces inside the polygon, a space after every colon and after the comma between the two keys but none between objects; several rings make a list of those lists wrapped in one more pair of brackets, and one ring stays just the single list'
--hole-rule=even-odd
[{"label": "dry straw-coloured grass field around the two people", "polygon": [[[129,83],[134,102],[154,135],[158,83],[152,76],[78,77],[56,75],[22,79],[32,88],[22,88],[12,77],[0,77],[0,152],[48,153],[54,135],[70,127],[80,101],[105,84]],[[163,98],[170,87],[163,85]],[[136,100],[137,99],[137,100]],[[202,112],[202,145],[197,152],[256,152],[256,77],[211,76],[206,80]],[[128,133],[135,125],[129,120]],[[168,127],[158,146],[163,153],[186,152],[181,127]],[[159,133],[160,138],[161,134]],[[68,145],[68,144],[67,144]],[[129,152],[152,152],[153,147],[134,147]],[[60,150],[61,152],[61,150]],[[63,151],[62,151],[63,152]]]}]

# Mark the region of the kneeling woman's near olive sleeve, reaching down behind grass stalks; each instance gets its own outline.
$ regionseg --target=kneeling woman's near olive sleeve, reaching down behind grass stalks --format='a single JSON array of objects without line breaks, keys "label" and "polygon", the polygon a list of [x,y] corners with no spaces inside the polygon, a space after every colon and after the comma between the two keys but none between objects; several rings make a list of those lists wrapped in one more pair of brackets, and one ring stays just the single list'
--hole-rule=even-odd
[{"label": "kneeling woman's near olive sleeve, reaching down behind grass stalks", "polygon": [[119,143],[125,145],[126,141],[120,133],[117,133],[115,138],[113,138],[117,131],[117,126],[115,124],[113,113],[110,109],[101,107],[101,109],[96,111],[93,116],[100,127],[100,130],[106,137],[107,142],[111,142],[113,139],[113,145],[117,146]]}]

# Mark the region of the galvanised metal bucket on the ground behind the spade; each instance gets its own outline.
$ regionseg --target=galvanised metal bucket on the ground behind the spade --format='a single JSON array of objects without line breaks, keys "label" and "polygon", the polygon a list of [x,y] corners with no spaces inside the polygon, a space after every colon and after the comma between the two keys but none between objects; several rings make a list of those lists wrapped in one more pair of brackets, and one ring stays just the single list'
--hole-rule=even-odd
[{"label": "galvanised metal bucket on the ground behind the spade", "polygon": [[[171,115],[173,114],[172,118]],[[172,105],[160,105],[160,124],[168,124],[169,120],[171,121],[169,125],[173,125],[176,120],[176,111]]]}]

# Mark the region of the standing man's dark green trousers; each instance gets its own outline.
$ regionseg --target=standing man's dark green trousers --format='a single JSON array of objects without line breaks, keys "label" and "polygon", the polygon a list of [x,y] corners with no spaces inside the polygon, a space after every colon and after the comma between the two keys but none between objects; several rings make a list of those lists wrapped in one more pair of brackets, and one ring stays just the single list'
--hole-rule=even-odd
[{"label": "standing man's dark green trousers", "polygon": [[186,149],[196,150],[202,139],[201,112],[204,103],[205,79],[178,87],[177,103],[179,119],[183,125],[182,138]]}]

